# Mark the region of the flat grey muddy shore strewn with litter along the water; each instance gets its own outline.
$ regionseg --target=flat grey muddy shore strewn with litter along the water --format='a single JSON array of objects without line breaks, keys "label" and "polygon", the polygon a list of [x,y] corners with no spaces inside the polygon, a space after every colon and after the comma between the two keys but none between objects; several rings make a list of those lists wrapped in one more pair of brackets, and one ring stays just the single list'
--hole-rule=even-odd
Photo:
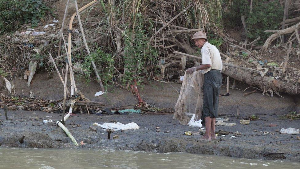
[{"label": "flat grey muddy shore strewn with litter along the water", "polygon": [[[2,112],[1,112],[2,113]],[[61,114],[48,114],[39,111],[8,111],[9,120],[0,125],[0,147],[36,147],[59,148],[74,147],[55,122],[42,123],[44,119],[59,120]],[[52,117],[47,117],[52,116]],[[239,123],[240,119],[229,117],[228,123],[236,123],[233,127],[216,126],[216,131],[228,131],[225,137],[219,134],[217,140],[211,142],[198,141],[200,135],[184,135],[185,131],[198,132],[198,127],[183,126],[172,115],[80,115],[71,116],[66,127],[77,142],[83,141],[82,147],[115,147],[134,151],[154,152],[188,152],[209,155],[223,155],[248,159],[288,159],[300,161],[300,140],[298,135],[279,134],[282,127],[300,128],[299,120],[277,120],[276,115],[260,115],[260,120],[251,121],[249,125]],[[92,126],[93,123],[135,122],[140,129],[115,131],[112,136],[118,139],[107,139],[105,129]],[[277,124],[269,127],[269,124]],[[92,127],[91,127],[92,126]],[[91,128],[90,128],[91,127]],[[159,129],[158,129],[159,128]],[[241,133],[236,135],[235,132]],[[23,143],[20,140],[25,136]],[[235,136],[235,138],[231,138]],[[269,154],[286,153],[286,154]],[[268,155],[269,154],[269,155]]]}]

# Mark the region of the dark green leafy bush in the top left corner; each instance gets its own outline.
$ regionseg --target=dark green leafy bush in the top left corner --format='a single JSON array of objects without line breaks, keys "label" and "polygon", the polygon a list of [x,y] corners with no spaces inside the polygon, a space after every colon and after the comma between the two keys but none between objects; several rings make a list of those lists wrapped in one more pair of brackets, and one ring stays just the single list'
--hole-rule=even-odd
[{"label": "dark green leafy bush in the top left corner", "polygon": [[47,13],[53,14],[53,9],[43,0],[0,0],[0,34],[24,23],[36,27]]}]

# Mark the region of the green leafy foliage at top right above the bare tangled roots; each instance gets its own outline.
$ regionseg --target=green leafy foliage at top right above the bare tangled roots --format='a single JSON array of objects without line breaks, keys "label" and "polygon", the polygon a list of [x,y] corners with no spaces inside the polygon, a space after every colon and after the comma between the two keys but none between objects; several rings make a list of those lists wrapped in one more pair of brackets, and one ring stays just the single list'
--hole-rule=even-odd
[{"label": "green leafy foliage at top right above the bare tangled roots", "polygon": [[[228,1],[228,0],[227,0]],[[272,33],[265,30],[277,30],[283,17],[283,6],[279,1],[253,0],[252,13],[248,0],[236,0],[228,12],[223,14],[224,25],[243,26],[241,16],[246,22],[246,35],[250,39],[258,38],[262,44]]]}]

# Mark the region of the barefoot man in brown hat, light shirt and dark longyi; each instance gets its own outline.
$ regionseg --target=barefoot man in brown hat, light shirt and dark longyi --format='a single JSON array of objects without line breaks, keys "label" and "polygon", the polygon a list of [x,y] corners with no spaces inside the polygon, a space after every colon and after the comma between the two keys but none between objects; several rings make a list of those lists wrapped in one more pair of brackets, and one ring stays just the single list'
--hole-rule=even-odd
[{"label": "barefoot man in brown hat, light shirt and dark longyi", "polygon": [[203,70],[203,112],[201,120],[202,124],[205,125],[206,131],[200,140],[211,141],[211,139],[216,139],[215,118],[218,117],[223,64],[219,50],[216,46],[207,42],[207,37],[204,32],[196,32],[192,40],[197,47],[201,48],[202,65],[189,68],[187,73],[192,74],[197,70]]}]

